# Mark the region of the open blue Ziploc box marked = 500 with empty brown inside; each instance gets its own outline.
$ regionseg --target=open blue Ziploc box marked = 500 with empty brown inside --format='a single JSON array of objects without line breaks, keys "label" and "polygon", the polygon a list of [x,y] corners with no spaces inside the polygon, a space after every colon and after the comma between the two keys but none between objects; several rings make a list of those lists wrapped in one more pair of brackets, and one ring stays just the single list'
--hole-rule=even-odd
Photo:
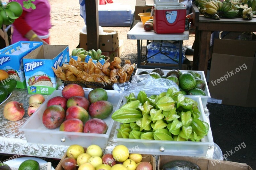
[{"label": "open blue Ziploc box marked = 500 with empty brown inside", "polygon": [[65,62],[69,62],[67,45],[42,45],[23,57],[28,93],[52,94],[61,84],[52,67]]}]

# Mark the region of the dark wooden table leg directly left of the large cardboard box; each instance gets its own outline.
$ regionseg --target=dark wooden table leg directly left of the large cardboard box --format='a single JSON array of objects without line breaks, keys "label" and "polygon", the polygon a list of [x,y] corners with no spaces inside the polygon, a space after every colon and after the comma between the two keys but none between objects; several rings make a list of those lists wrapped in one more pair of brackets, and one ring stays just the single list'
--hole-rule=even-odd
[{"label": "dark wooden table leg directly left of the large cardboard box", "polygon": [[204,75],[206,76],[208,58],[209,58],[211,31],[202,31],[200,39],[201,41],[199,43],[198,70],[204,71]]}]

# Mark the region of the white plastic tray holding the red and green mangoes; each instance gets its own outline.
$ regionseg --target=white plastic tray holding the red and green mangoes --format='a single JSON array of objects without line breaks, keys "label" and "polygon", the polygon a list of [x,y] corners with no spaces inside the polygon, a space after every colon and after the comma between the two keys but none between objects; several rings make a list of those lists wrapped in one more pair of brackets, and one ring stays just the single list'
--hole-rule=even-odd
[{"label": "white plastic tray holding the red and green mangoes", "polygon": [[[55,96],[62,96],[61,90],[55,90],[44,103],[36,110],[36,112],[20,127],[20,131],[24,131],[27,142],[36,144],[56,144],[56,145],[72,145],[79,144],[88,147],[97,144],[101,148],[105,148],[108,144],[110,133],[114,126],[114,120],[111,115],[120,107],[123,93],[108,92],[108,101],[113,105],[113,111],[106,119],[103,119],[108,125],[106,134],[96,133],[80,133],[80,132],[64,132],[56,129],[47,129],[43,122],[42,116],[47,108],[47,102]],[[85,97],[88,99],[90,91],[85,91]],[[91,119],[91,117],[90,117]]]}]

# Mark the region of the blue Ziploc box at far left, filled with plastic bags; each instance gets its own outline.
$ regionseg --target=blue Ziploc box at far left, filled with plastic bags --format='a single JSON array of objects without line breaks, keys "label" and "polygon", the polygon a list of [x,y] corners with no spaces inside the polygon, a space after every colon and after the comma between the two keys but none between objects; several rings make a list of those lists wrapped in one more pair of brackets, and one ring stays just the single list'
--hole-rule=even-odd
[{"label": "blue Ziploc box at far left, filled with plastic bags", "polygon": [[17,80],[16,88],[26,88],[22,57],[41,45],[43,42],[19,41],[0,50],[0,69],[6,70],[9,78]]}]

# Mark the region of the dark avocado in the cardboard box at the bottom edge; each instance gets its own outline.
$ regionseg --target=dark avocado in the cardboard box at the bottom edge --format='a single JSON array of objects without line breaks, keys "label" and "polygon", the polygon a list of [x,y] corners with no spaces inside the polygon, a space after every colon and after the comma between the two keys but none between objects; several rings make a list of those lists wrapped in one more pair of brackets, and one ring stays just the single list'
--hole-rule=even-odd
[{"label": "dark avocado in the cardboard box at the bottom edge", "polygon": [[187,160],[172,160],[165,163],[161,170],[201,170],[201,168]]}]

